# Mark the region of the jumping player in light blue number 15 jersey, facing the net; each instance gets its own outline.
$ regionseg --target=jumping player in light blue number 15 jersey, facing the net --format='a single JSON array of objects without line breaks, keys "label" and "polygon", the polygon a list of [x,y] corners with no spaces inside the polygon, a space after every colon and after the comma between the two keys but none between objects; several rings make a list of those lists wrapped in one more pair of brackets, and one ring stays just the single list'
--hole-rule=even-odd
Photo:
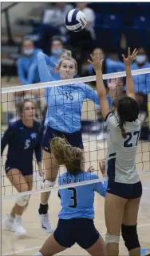
[{"label": "jumping player in light blue number 15 jersey, facing the net", "polygon": [[[45,55],[38,54],[38,70],[41,82],[53,81],[53,76],[49,72]],[[57,65],[61,79],[73,79],[77,74],[77,62],[71,57],[70,51],[65,51],[64,56]],[[99,104],[97,92],[85,83],[75,83],[71,85],[48,87],[45,89],[47,102],[47,112],[45,117],[45,132],[43,136],[42,148],[45,163],[45,181],[42,187],[53,186],[53,181],[57,178],[59,165],[53,161],[53,154],[49,147],[49,141],[54,136],[65,137],[69,144],[81,148],[83,142],[81,136],[81,108],[86,98]],[[41,193],[41,204],[39,214],[41,227],[46,233],[52,232],[48,216],[49,192]]]}]

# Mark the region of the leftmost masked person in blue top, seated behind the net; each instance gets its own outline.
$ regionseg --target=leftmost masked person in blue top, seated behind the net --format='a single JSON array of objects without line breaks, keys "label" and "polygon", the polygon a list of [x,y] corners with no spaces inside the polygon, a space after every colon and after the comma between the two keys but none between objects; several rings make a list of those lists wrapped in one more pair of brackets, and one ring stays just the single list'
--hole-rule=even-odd
[{"label": "leftmost masked person in blue top, seated behind the net", "polygon": [[[41,49],[34,47],[32,39],[23,39],[22,41],[22,55],[18,58],[18,79],[20,85],[27,85],[32,83],[39,83],[38,74],[38,52]],[[43,97],[43,98],[42,98]],[[14,92],[14,102],[17,112],[15,112],[14,118],[10,121],[18,120],[18,112],[22,106],[22,101],[25,99],[32,99],[35,107],[38,109],[45,108],[44,90],[28,90],[28,91],[16,91]],[[44,100],[43,100],[44,99]],[[38,116],[40,113],[38,112]]]}]

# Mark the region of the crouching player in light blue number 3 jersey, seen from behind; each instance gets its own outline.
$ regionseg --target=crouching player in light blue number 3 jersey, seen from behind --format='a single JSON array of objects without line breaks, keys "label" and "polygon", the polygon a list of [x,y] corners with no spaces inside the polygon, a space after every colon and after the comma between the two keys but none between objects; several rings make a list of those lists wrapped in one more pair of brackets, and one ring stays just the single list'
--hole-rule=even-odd
[{"label": "crouching player in light blue number 3 jersey, seen from behind", "polygon": [[[34,256],[52,256],[77,243],[90,255],[105,256],[105,242],[94,226],[94,193],[105,197],[107,181],[74,186],[77,182],[97,179],[94,173],[85,173],[81,168],[81,148],[76,148],[60,137],[51,140],[50,148],[59,165],[65,165],[67,173],[59,177],[59,185],[72,184],[68,189],[59,189],[61,211],[57,229],[45,241]],[[103,166],[101,166],[103,167]],[[105,176],[105,170],[101,173]]]}]

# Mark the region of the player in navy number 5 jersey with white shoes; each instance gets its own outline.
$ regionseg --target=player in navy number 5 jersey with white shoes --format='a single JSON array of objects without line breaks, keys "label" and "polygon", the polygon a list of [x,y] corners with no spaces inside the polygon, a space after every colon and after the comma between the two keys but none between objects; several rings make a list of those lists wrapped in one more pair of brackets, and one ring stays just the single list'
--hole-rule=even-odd
[{"label": "player in navy number 5 jersey with white shoes", "polygon": [[[35,121],[35,107],[30,100],[25,100],[20,113],[22,119],[11,123],[2,137],[1,155],[8,144],[5,164],[6,177],[18,193],[32,190],[33,186],[33,156],[41,170],[41,128]],[[30,195],[18,196],[11,213],[8,213],[2,227],[15,231],[17,236],[26,235],[22,226],[22,213],[28,205]]]}]

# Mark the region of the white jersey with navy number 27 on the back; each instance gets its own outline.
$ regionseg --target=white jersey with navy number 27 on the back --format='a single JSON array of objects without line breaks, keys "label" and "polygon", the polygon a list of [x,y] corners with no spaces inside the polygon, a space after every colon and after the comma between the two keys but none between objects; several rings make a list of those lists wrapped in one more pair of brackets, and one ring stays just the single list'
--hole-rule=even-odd
[{"label": "white jersey with navy number 27 on the back", "polygon": [[109,182],[134,184],[140,181],[136,172],[136,151],[140,138],[140,120],[126,122],[126,138],[121,135],[119,120],[112,112],[105,118],[108,125],[106,170]]}]

